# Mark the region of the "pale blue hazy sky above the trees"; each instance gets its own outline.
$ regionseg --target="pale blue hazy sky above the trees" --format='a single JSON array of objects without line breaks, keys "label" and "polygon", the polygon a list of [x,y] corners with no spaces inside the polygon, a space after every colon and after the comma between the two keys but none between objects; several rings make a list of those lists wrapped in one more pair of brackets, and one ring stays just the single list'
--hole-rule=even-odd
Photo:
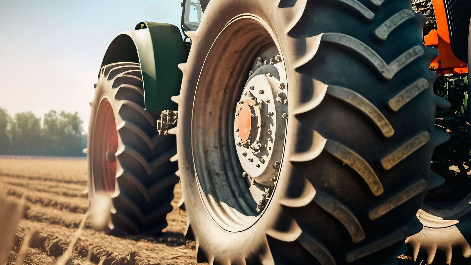
[{"label": "pale blue hazy sky above the trees", "polygon": [[0,0],[0,107],[10,114],[78,111],[106,48],[140,21],[180,25],[181,0]]}]

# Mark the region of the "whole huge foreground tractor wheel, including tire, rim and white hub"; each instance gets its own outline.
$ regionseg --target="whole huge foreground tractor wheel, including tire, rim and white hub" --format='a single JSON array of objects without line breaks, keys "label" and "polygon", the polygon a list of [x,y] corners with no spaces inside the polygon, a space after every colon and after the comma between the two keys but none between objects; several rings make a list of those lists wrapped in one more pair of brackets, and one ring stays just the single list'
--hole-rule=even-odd
[{"label": "whole huge foreground tractor wheel, including tire, rim and white hub", "polygon": [[447,140],[425,22],[410,0],[210,1],[170,131],[198,262],[397,263]]}]

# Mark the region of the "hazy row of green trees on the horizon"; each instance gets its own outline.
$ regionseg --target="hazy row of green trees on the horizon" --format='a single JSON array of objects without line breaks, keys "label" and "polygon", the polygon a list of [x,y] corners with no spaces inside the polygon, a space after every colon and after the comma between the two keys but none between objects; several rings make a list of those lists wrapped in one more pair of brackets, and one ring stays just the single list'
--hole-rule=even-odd
[{"label": "hazy row of green trees on the horizon", "polygon": [[31,111],[10,116],[0,108],[0,155],[85,156],[82,124],[77,112],[51,110],[41,123]]}]

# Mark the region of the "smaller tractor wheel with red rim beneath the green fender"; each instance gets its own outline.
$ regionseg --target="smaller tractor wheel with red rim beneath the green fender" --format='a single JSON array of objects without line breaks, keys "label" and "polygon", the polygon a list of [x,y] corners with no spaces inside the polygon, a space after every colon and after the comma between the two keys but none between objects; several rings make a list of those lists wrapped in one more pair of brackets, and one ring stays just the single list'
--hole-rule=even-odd
[{"label": "smaller tractor wheel with red rim beneath the green fender", "polygon": [[179,182],[174,135],[157,133],[157,113],[144,110],[139,64],[103,66],[91,103],[88,142],[89,199],[111,197],[108,232],[157,234],[167,226]]}]

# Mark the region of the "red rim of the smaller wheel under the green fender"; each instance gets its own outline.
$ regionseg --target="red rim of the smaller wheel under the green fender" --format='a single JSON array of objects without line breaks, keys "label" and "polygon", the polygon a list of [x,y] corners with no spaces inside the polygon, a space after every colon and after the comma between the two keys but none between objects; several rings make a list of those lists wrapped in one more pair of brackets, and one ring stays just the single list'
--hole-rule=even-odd
[{"label": "red rim of the smaller wheel under the green fender", "polygon": [[110,101],[103,98],[98,106],[93,131],[93,178],[97,191],[114,193],[118,132]]}]

